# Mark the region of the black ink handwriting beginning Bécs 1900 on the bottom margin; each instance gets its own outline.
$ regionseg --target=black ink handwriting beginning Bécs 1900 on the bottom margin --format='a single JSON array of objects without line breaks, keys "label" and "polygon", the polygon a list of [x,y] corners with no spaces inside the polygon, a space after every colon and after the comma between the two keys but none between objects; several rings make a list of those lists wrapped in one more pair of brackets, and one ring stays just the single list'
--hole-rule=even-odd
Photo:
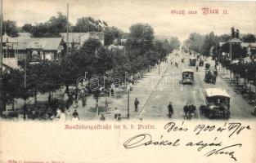
[{"label": "black ink handwriting beginning B\u00e9cs 1900 on the bottom margin", "polygon": [[[155,148],[176,148],[177,146],[184,146],[186,148],[196,148],[197,152],[203,152],[204,156],[229,156],[231,160],[237,161],[236,152],[238,148],[242,147],[242,143],[231,143],[225,144],[218,136],[214,139],[207,141],[203,140],[201,137],[199,140],[184,141],[181,139],[173,139],[170,137],[171,133],[186,133],[191,130],[191,127],[187,127],[185,122],[182,121],[181,124],[176,124],[171,121],[165,124],[164,131],[168,133],[164,137],[164,134],[153,138],[149,133],[137,134],[132,138],[124,142],[124,148],[139,148],[139,147],[155,147]],[[244,126],[239,122],[225,122],[222,126],[208,126],[205,124],[199,124],[192,127],[191,132],[195,136],[202,134],[204,132],[217,132],[218,134],[222,132],[227,132],[227,138],[230,139],[234,135],[241,134],[245,130],[251,130],[250,126]]]}]

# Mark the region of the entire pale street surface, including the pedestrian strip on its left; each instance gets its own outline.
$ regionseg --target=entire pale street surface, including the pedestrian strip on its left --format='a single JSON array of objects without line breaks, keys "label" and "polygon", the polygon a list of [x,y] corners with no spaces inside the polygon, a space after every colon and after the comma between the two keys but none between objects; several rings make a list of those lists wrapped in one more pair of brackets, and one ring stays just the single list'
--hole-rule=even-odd
[{"label": "entire pale street surface, including the pedestrian strip on its left", "polygon": [[[175,56],[175,54],[178,54]],[[207,119],[200,112],[200,105],[204,105],[204,90],[206,88],[221,88],[227,90],[231,96],[230,119],[252,118],[251,112],[254,111],[254,106],[250,105],[242,95],[238,95],[233,90],[227,81],[218,76],[215,84],[204,82],[204,67],[199,67],[196,72],[195,66],[189,66],[189,58],[191,56],[181,51],[173,51],[168,55],[168,63],[162,62],[159,67],[151,69],[146,73],[137,83],[133,86],[129,94],[129,114],[130,119],[143,119],[143,120],[163,120],[168,119],[168,103],[173,104],[173,117],[174,119],[183,119],[183,107],[186,103],[194,104],[196,107],[195,117],[193,119]],[[181,62],[182,58],[185,59],[184,63]],[[177,62],[176,68],[171,64]],[[204,61],[204,64],[209,63],[213,65],[213,60],[210,58]],[[195,72],[194,85],[180,84],[182,79],[182,69],[190,68]],[[219,68],[219,67],[218,67]],[[218,69],[219,74],[223,74],[222,68]],[[137,98],[140,101],[138,112],[134,110],[134,100]],[[88,99],[88,105],[85,108],[78,108],[79,117],[82,120],[99,119],[95,107],[95,100]],[[108,104],[107,109],[105,104]],[[128,114],[128,92],[115,91],[115,95],[109,98],[101,98],[99,101],[101,111],[106,111],[106,120],[115,120],[115,107],[118,108],[119,113],[123,119],[127,118]],[[74,108],[71,107],[71,112]]]}]

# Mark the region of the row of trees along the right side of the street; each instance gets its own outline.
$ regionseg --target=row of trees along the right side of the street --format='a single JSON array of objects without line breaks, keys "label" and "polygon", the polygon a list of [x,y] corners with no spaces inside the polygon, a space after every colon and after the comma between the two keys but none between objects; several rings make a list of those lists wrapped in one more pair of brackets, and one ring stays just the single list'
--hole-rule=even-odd
[{"label": "row of trees along the right side of the street", "polygon": [[[201,35],[199,33],[191,33],[190,37],[184,42],[184,44],[189,47],[191,51],[195,51],[204,56],[211,55],[213,59],[222,64],[223,68],[227,68],[233,73],[233,77],[237,80],[241,77],[245,79],[246,82],[254,81],[256,85],[256,63],[255,56],[256,50],[254,48],[250,49],[251,59],[250,62],[245,62],[245,57],[248,55],[246,48],[240,46],[240,43],[230,43],[230,41],[241,42],[256,42],[256,37],[254,34],[248,33],[240,36],[240,30],[231,27],[230,34],[222,34],[220,36],[215,35],[213,32]],[[220,44],[222,42],[222,44]],[[231,48],[231,51],[230,51]],[[231,52],[231,55],[230,55]],[[232,56],[232,57],[231,57]],[[233,62],[232,60],[239,60],[238,62]]]}]

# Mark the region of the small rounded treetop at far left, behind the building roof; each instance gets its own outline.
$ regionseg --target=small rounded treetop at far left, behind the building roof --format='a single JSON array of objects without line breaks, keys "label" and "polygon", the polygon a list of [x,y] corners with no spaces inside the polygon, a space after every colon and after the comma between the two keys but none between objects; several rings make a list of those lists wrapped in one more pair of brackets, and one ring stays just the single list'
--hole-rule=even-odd
[{"label": "small rounded treetop at far left, behind the building roof", "polygon": [[19,29],[16,25],[16,21],[12,21],[12,20],[3,21],[2,29],[7,33],[8,36],[18,37]]}]

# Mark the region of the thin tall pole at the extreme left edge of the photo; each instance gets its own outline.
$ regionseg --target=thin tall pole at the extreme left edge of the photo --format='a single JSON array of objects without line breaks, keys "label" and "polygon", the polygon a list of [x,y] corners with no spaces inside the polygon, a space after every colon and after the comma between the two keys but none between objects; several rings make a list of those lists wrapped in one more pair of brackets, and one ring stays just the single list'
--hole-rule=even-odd
[{"label": "thin tall pole at the extreme left edge of the photo", "polygon": [[0,16],[0,117],[2,117],[2,0],[1,0],[1,16]]}]

